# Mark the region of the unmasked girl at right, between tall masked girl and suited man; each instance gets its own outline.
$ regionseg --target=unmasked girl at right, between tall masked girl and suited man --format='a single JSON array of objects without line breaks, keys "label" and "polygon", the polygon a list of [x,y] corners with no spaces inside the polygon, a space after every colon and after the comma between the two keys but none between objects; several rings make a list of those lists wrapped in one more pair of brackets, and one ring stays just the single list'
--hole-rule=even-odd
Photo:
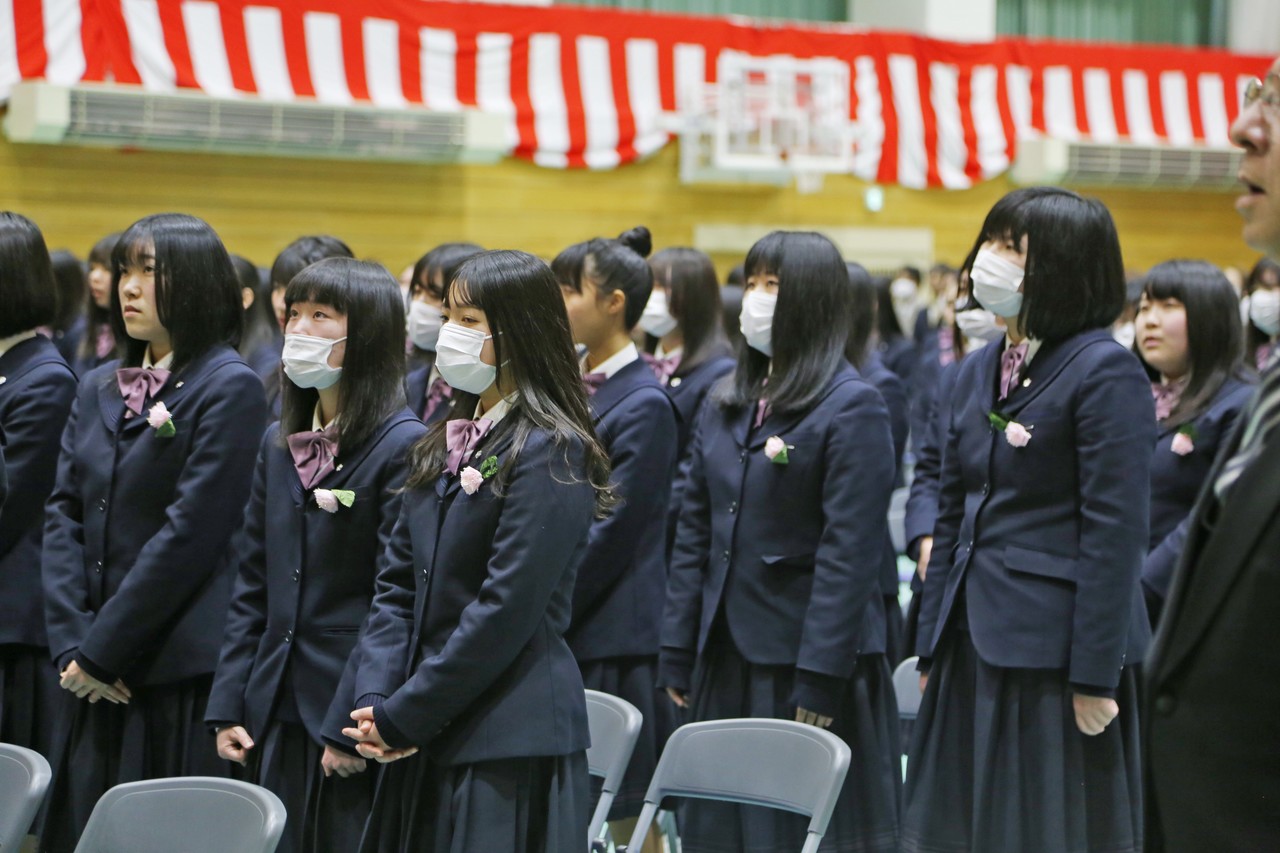
[{"label": "unmasked girl at right, between tall masked girl and suited man", "polygon": [[1181,556],[1183,521],[1254,383],[1244,365],[1235,288],[1208,261],[1151,268],[1134,325],[1134,348],[1151,378],[1160,424],[1151,462],[1149,553],[1142,569],[1155,629]]}]

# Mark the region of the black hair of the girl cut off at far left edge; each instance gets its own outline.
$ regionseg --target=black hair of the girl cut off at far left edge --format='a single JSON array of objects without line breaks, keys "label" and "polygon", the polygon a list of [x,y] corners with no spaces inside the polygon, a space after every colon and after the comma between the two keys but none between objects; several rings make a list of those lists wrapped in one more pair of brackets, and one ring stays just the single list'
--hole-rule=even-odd
[{"label": "black hair of the girl cut off at far left edge", "polygon": [[0,338],[51,325],[58,318],[58,286],[45,236],[36,223],[0,211]]}]

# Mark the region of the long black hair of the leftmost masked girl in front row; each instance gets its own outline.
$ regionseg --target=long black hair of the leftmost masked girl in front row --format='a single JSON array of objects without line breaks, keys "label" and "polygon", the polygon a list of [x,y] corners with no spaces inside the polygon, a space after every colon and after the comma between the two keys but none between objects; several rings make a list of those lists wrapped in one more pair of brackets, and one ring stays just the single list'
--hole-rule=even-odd
[{"label": "long black hair of the leftmost masked girl in front row", "polygon": [[[399,282],[379,264],[328,257],[293,277],[285,315],[296,302],[328,305],[347,316],[347,351],[338,387],[338,446],[360,447],[404,407],[404,302]],[[311,429],[320,398],[288,375],[280,382],[280,441]]]}]

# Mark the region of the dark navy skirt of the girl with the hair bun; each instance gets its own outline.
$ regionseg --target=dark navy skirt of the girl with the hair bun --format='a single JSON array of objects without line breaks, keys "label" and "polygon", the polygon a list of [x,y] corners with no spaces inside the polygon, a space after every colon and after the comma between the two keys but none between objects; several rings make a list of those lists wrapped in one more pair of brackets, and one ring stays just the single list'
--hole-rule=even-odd
[{"label": "dark navy skirt of the girl with the hair bun", "polygon": [[[626,699],[644,716],[640,726],[640,739],[631,763],[622,777],[622,785],[609,809],[611,821],[639,817],[644,807],[644,795],[649,790],[653,771],[658,767],[662,748],[667,738],[678,725],[676,704],[658,683],[657,657],[611,657],[602,661],[585,661],[581,665],[582,684],[589,690],[599,690]],[[591,777],[591,811],[600,798],[600,779]]]}]

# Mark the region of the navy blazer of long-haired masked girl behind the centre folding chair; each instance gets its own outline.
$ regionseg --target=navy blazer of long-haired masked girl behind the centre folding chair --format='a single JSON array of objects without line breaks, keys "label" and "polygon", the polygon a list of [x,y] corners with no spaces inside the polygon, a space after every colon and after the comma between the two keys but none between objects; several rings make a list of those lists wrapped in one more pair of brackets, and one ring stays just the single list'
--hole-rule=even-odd
[{"label": "navy blazer of long-haired masked girl behind the centre folding chair", "polygon": [[[662,626],[662,679],[687,689],[723,612],[753,663],[849,679],[884,652],[881,557],[893,489],[893,439],[879,393],[844,364],[804,412],[703,407],[684,476],[684,507]],[[786,465],[765,442],[788,446]],[[838,686],[795,701],[813,711]],[[827,704],[829,707],[829,703]]]}]

